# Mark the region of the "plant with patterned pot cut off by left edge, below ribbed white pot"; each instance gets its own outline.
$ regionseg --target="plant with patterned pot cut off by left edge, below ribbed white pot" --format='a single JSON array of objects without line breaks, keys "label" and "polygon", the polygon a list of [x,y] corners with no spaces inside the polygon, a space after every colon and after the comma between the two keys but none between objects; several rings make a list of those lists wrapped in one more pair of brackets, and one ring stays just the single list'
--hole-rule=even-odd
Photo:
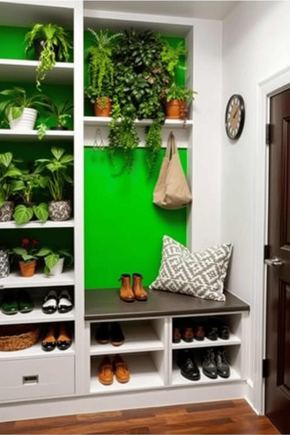
[{"label": "plant with patterned pot cut off by left edge, below ribbed white pot", "polygon": [[17,177],[21,171],[12,163],[13,154],[0,154],[0,222],[12,219],[14,202],[9,201],[13,189],[10,178]]}]

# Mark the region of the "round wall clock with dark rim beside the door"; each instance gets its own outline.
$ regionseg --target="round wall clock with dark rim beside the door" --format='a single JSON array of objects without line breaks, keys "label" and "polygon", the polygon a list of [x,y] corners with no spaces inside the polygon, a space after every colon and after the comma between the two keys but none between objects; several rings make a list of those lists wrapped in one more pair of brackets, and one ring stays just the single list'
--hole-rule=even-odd
[{"label": "round wall clock with dark rim beside the door", "polygon": [[230,139],[236,140],[243,131],[245,120],[245,104],[241,95],[234,94],[230,97],[226,109],[226,132]]}]

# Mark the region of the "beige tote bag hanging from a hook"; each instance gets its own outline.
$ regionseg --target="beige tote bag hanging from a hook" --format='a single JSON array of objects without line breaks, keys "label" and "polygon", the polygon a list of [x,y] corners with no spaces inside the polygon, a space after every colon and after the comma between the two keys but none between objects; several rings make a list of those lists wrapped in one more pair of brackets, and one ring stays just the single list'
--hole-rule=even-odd
[{"label": "beige tote bag hanging from a hook", "polygon": [[166,154],[153,192],[153,203],[161,208],[177,210],[185,207],[191,200],[192,197],[180,164],[175,138],[171,131],[167,141]]}]

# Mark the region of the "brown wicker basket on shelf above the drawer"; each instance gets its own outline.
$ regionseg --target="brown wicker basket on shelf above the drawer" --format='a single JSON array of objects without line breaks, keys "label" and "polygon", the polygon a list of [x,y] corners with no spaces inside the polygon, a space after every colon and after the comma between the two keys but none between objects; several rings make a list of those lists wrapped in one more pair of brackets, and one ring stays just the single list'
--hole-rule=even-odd
[{"label": "brown wicker basket on shelf above the drawer", "polygon": [[19,351],[37,343],[40,325],[2,325],[0,326],[0,351]]}]

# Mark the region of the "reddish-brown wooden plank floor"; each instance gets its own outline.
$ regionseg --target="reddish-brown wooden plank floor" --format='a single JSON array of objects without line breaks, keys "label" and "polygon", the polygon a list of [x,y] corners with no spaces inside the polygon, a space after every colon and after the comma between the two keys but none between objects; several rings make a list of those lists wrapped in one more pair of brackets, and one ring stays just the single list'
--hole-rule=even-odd
[{"label": "reddish-brown wooden plank floor", "polygon": [[280,434],[243,399],[0,423],[0,434]]}]

